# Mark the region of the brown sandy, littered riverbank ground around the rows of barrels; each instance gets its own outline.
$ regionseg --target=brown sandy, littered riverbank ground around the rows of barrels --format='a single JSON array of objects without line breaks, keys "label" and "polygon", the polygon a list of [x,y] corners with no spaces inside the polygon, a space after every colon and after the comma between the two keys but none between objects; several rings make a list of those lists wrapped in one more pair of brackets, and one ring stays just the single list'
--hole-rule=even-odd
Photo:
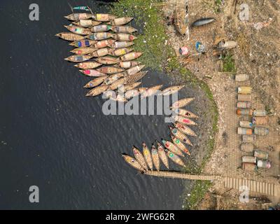
[{"label": "brown sandy, littered riverbank ground around the rows of barrels", "polygon": [[[181,7],[183,0],[177,0]],[[263,4],[255,1],[242,1],[249,6],[250,18],[248,22],[241,22],[238,18],[239,4],[234,13],[231,1],[221,6],[221,12],[215,12],[214,1],[189,1],[188,12],[190,24],[203,17],[215,17],[216,22],[204,27],[190,29],[190,40],[175,31],[173,25],[168,26],[169,44],[174,49],[183,45],[188,46],[191,54],[195,54],[195,42],[202,42],[207,53],[193,57],[191,62],[181,58],[190,71],[198,78],[205,80],[214,94],[218,105],[218,134],[216,146],[204,172],[222,176],[255,179],[258,181],[279,182],[279,152],[280,152],[280,31],[279,31],[279,1],[267,1]],[[163,8],[168,19],[172,18],[174,6]],[[267,22],[272,18],[271,24],[260,30],[254,29],[256,22]],[[250,79],[246,83],[236,83],[234,74],[221,72],[222,62],[213,55],[213,44],[216,38],[223,37],[227,40],[237,41],[237,48],[231,50],[234,55],[237,73],[247,73]],[[250,155],[239,150],[241,136],[237,134],[239,120],[248,120],[246,116],[236,114],[237,87],[248,85],[253,87],[253,108],[265,109],[269,114],[269,135],[258,137],[255,148],[267,151],[269,160],[272,161],[271,169],[258,169],[258,172],[244,172],[241,169],[241,156]],[[215,195],[216,208],[218,209],[265,209],[266,201],[260,195],[252,195],[258,200],[251,203],[240,204],[239,192],[224,189],[217,184],[211,189]],[[218,195],[218,197],[216,197]],[[221,196],[222,195],[222,196]],[[211,196],[205,197],[202,209],[209,209],[204,204],[210,205]],[[208,201],[207,201],[208,200]],[[269,198],[271,202],[279,202],[277,198]],[[213,204],[213,203],[212,203]],[[269,204],[269,203],[268,203]]]}]

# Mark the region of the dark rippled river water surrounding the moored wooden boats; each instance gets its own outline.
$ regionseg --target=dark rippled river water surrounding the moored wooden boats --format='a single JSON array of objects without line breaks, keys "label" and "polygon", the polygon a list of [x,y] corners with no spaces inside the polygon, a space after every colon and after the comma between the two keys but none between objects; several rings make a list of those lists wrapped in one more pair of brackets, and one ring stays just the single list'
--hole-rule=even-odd
[{"label": "dark rippled river water surrounding the moored wooden boats", "polygon": [[[69,13],[67,1],[1,1],[0,209],[181,209],[186,181],[137,174],[120,156],[167,137],[165,117],[104,116],[104,99],[85,97],[90,78],[64,61],[71,46],[54,36]],[[153,71],[143,81],[170,82]],[[29,203],[33,185],[38,204]]]}]

